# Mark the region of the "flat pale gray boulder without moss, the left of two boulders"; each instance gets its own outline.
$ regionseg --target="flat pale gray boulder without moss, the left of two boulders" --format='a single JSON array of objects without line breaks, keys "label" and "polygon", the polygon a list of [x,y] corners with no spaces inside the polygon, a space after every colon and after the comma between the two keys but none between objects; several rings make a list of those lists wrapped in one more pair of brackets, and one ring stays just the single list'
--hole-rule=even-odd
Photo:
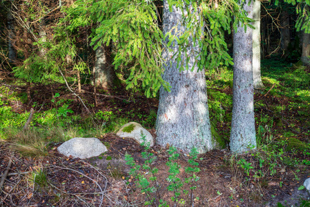
[{"label": "flat pale gray boulder without moss, the left of two boulders", "polygon": [[97,138],[72,138],[57,148],[58,152],[65,156],[85,159],[97,157],[108,151],[106,146]]}]

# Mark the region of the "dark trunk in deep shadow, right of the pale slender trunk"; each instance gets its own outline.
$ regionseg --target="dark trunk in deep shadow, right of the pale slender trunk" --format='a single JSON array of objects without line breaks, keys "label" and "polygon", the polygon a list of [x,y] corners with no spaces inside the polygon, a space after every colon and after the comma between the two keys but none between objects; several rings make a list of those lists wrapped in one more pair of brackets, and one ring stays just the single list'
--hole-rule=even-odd
[{"label": "dark trunk in deep shadow, right of the pale slender trunk", "polygon": [[281,49],[284,50],[285,55],[287,53],[287,48],[289,48],[289,42],[291,41],[291,35],[289,32],[289,12],[287,10],[282,10],[280,15],[280,32],[281,32]]}]

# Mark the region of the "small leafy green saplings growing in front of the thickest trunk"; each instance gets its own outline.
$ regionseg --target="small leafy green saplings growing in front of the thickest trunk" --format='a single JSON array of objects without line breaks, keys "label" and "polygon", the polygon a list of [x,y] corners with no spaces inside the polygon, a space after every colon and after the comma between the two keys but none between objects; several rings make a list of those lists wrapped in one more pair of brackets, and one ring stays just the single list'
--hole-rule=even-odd
[{"label": "small leafy green saplings growing in front of the thickest trunk", "polygon": [[[168,206],[168,201],[164,201],[162,199],[162,191],[168,190],[173,192],[173,196],[171,197],[171,201],[174,206],[178,204],[185,204],[186,201],[180,198],[180,195],[183,193],[184,195],[188,195],[190,197],[191,206],[194,200],[193,191],[197,188],[195,182],[197,182],[200,177],[197,177],[197,172],[200,172],[200,168],[198,167],[198,163],[195,161],[197,159],[197,149],[193,148],[189,153],[188,164],[190,166],[186,167],[184,171],[189,176],[185,179],[180,178],[180,164],[177,163],[177,159],[179,159],[180,154],[177,153],[177,149],[171,146],[168,149],[168,161],[166,162],[166,166],[168,166],[169,175],[166,180],[169,182],[166,189],[161,189],[162,186],[159,184],[157,180],[157,172],[158,168],[154,167],[155,161],[157,157],[150,151],[149,144],[145,144],[145,135],[142,135],[142,139],[144,143],[144,152],[141,153],[142,158],[145,159],[144,164],[140,166],[137,164],[133,157],[126,154],[125,160],[126,164],[131,167],[128,174],[136,179],[136,185],[140,188],[141,193],[146,195],[146,201],[144,202],[145,206],[159,206],[166,207]],[[189,184],[189,189],[183,189],[184,184]],[[196,200],[199,197],[195,197]]]}]

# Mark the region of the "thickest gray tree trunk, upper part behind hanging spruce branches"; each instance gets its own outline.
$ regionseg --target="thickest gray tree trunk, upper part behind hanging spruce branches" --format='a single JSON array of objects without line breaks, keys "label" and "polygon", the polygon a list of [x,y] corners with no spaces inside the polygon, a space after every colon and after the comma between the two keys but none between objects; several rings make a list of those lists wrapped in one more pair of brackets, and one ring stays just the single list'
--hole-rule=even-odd
[{"label": "thickest gray tree trunk, upper part behind hanging spruce branches", "polygon": [[[186,27],[181,21],[182,10],[173,7],[173,11],[170,12],[167,0],[164,0],[164,34],[175,26],[179,32],[184,32]],[[175,34],[174,31],[172,35]],[[163,79],[170,83],[171,92],[165,91],[164,88],[159,91],[157,144],[161,146],[170,144],[185,151],[195,147],[200,153],[206,152],[213,148],[213,141],[204,71],[198,72],[197,66],[193,68],[195,57],[192,56],[188,67],[193,68],[193,71],[180,72],[177,61],[171,58],[179,50],[177,42],[171,44],[171,49],[173,51],[164,50],[162,53],[166,61]],[[187,49],[185,52],[200,52],[197,43],[196,46],[192,44]]]}]

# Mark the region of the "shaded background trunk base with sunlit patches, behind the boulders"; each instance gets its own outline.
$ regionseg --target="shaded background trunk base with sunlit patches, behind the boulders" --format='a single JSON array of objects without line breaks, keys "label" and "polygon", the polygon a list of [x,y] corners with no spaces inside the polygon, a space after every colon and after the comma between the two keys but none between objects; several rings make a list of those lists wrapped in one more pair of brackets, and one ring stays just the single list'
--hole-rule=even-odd
[{"label": "shaded background trunk base with sunlit patches, behind the boulders", "polygon": [[104,89],[108,89],[111,86],[119,84],[119,79],[115,75],[115,71],[112,68],[110,47],[101,46],[97,48],[95,76],[95,86],[101,86]]}]

